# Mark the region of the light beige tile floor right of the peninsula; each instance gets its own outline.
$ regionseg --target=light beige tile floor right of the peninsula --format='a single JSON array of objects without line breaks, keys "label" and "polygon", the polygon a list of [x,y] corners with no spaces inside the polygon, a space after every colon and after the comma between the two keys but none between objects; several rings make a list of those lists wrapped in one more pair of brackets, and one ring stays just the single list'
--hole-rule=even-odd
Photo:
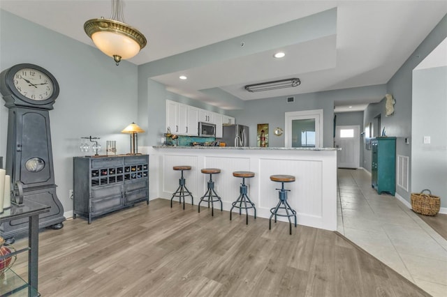
[{"label": "light beige tile floor right of the peninsula", "polygon": [[447,241],[363,169],[338,169],[337,231],[432,296],[447,296]]}]

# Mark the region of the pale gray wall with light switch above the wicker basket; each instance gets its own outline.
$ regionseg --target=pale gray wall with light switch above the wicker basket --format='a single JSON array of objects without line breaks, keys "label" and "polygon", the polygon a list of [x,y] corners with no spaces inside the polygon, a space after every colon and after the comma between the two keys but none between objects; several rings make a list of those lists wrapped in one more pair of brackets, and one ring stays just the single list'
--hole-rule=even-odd
[{"label": "pale gray wall with light switch above the wicker basket", "polygon": [[[447,207],[447,66],[413,71],[411,192],[430,189]],[[430,136],[431,144],[423,144]]]}]

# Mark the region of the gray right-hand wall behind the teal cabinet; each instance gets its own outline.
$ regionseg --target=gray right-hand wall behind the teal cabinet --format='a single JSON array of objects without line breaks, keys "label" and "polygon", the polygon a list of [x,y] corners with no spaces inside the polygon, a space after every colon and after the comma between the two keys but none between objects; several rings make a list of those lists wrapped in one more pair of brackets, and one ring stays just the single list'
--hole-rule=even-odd
[{"label": "gray right-hand wall behind the teal cabinet", "polygon": [[[437,24],[437,26],[430,32],[430,34],[423,40],[423,42],[416,48],[416,50],[409,56],[402,67],[397,70],[388,84],[386,85],[387,93],[394,96],[396,100],[395,113],[391,116],[385,116],[385,102],[382,100],[379,104],[369,105],[365,110],[364,123],[373,121],[374,116],[381,114],[382,127],[386,127],[386,135],[396,136],[396,153],[397,155],[409,156],[410,159],[410,181],[411,166],[413,156],[411,155],[411,146],[405,144],[405,137],[411,137],[411,106],[412,106],[412,91],[413,91],[413,69],[425,59],[425,57],[434,50],[447,37],[447,15]],[[433,136],[433,135],[432,135]],[[365,154],[365,168],[371,170],[371,159],[367,160]],[[410,194],[412,187],[409,185],[409,191],[405,191],[400,187],[396,187],[398,195],[410,202]],[[416,189],[415,189],[416,190]]]}]

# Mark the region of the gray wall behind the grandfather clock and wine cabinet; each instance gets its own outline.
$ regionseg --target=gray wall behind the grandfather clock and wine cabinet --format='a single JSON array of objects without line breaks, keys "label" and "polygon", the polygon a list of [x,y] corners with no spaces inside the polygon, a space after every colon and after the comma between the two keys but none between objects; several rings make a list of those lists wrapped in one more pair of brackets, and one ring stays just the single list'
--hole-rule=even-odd
[{"label": "gray wall behind the grandfather clock and wine cabinet", "polygon": [[[64,211],[71,211],[68,190],[73,189],[73,156],[82,155],[80,137],[101,137],[103,148],[106,140],[116,140],[118,153],[130,151],[129,135],[121,130],[137,121],[138,68],[126,61],[117,67],[112,58],[96,48],[4,10],[0,10],[0,38],[0,70],[34,63],[50,71],[59,82],[59,98],[50,111],[54,176]],[[3,103],[0,155],[5,157],[8,109]]]}]

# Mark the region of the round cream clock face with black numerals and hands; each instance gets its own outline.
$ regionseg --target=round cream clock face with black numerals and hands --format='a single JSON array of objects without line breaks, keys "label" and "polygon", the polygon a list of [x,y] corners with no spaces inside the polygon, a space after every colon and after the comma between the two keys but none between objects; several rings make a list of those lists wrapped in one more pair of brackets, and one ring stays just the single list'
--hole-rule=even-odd
[{"label": "round cream clock face with black numerals and hands", "polygon": [[15,89],[26,98],[47,100],[54,92],[53,82],[45,73],[33,68],[22,68],[13,77]]}]

